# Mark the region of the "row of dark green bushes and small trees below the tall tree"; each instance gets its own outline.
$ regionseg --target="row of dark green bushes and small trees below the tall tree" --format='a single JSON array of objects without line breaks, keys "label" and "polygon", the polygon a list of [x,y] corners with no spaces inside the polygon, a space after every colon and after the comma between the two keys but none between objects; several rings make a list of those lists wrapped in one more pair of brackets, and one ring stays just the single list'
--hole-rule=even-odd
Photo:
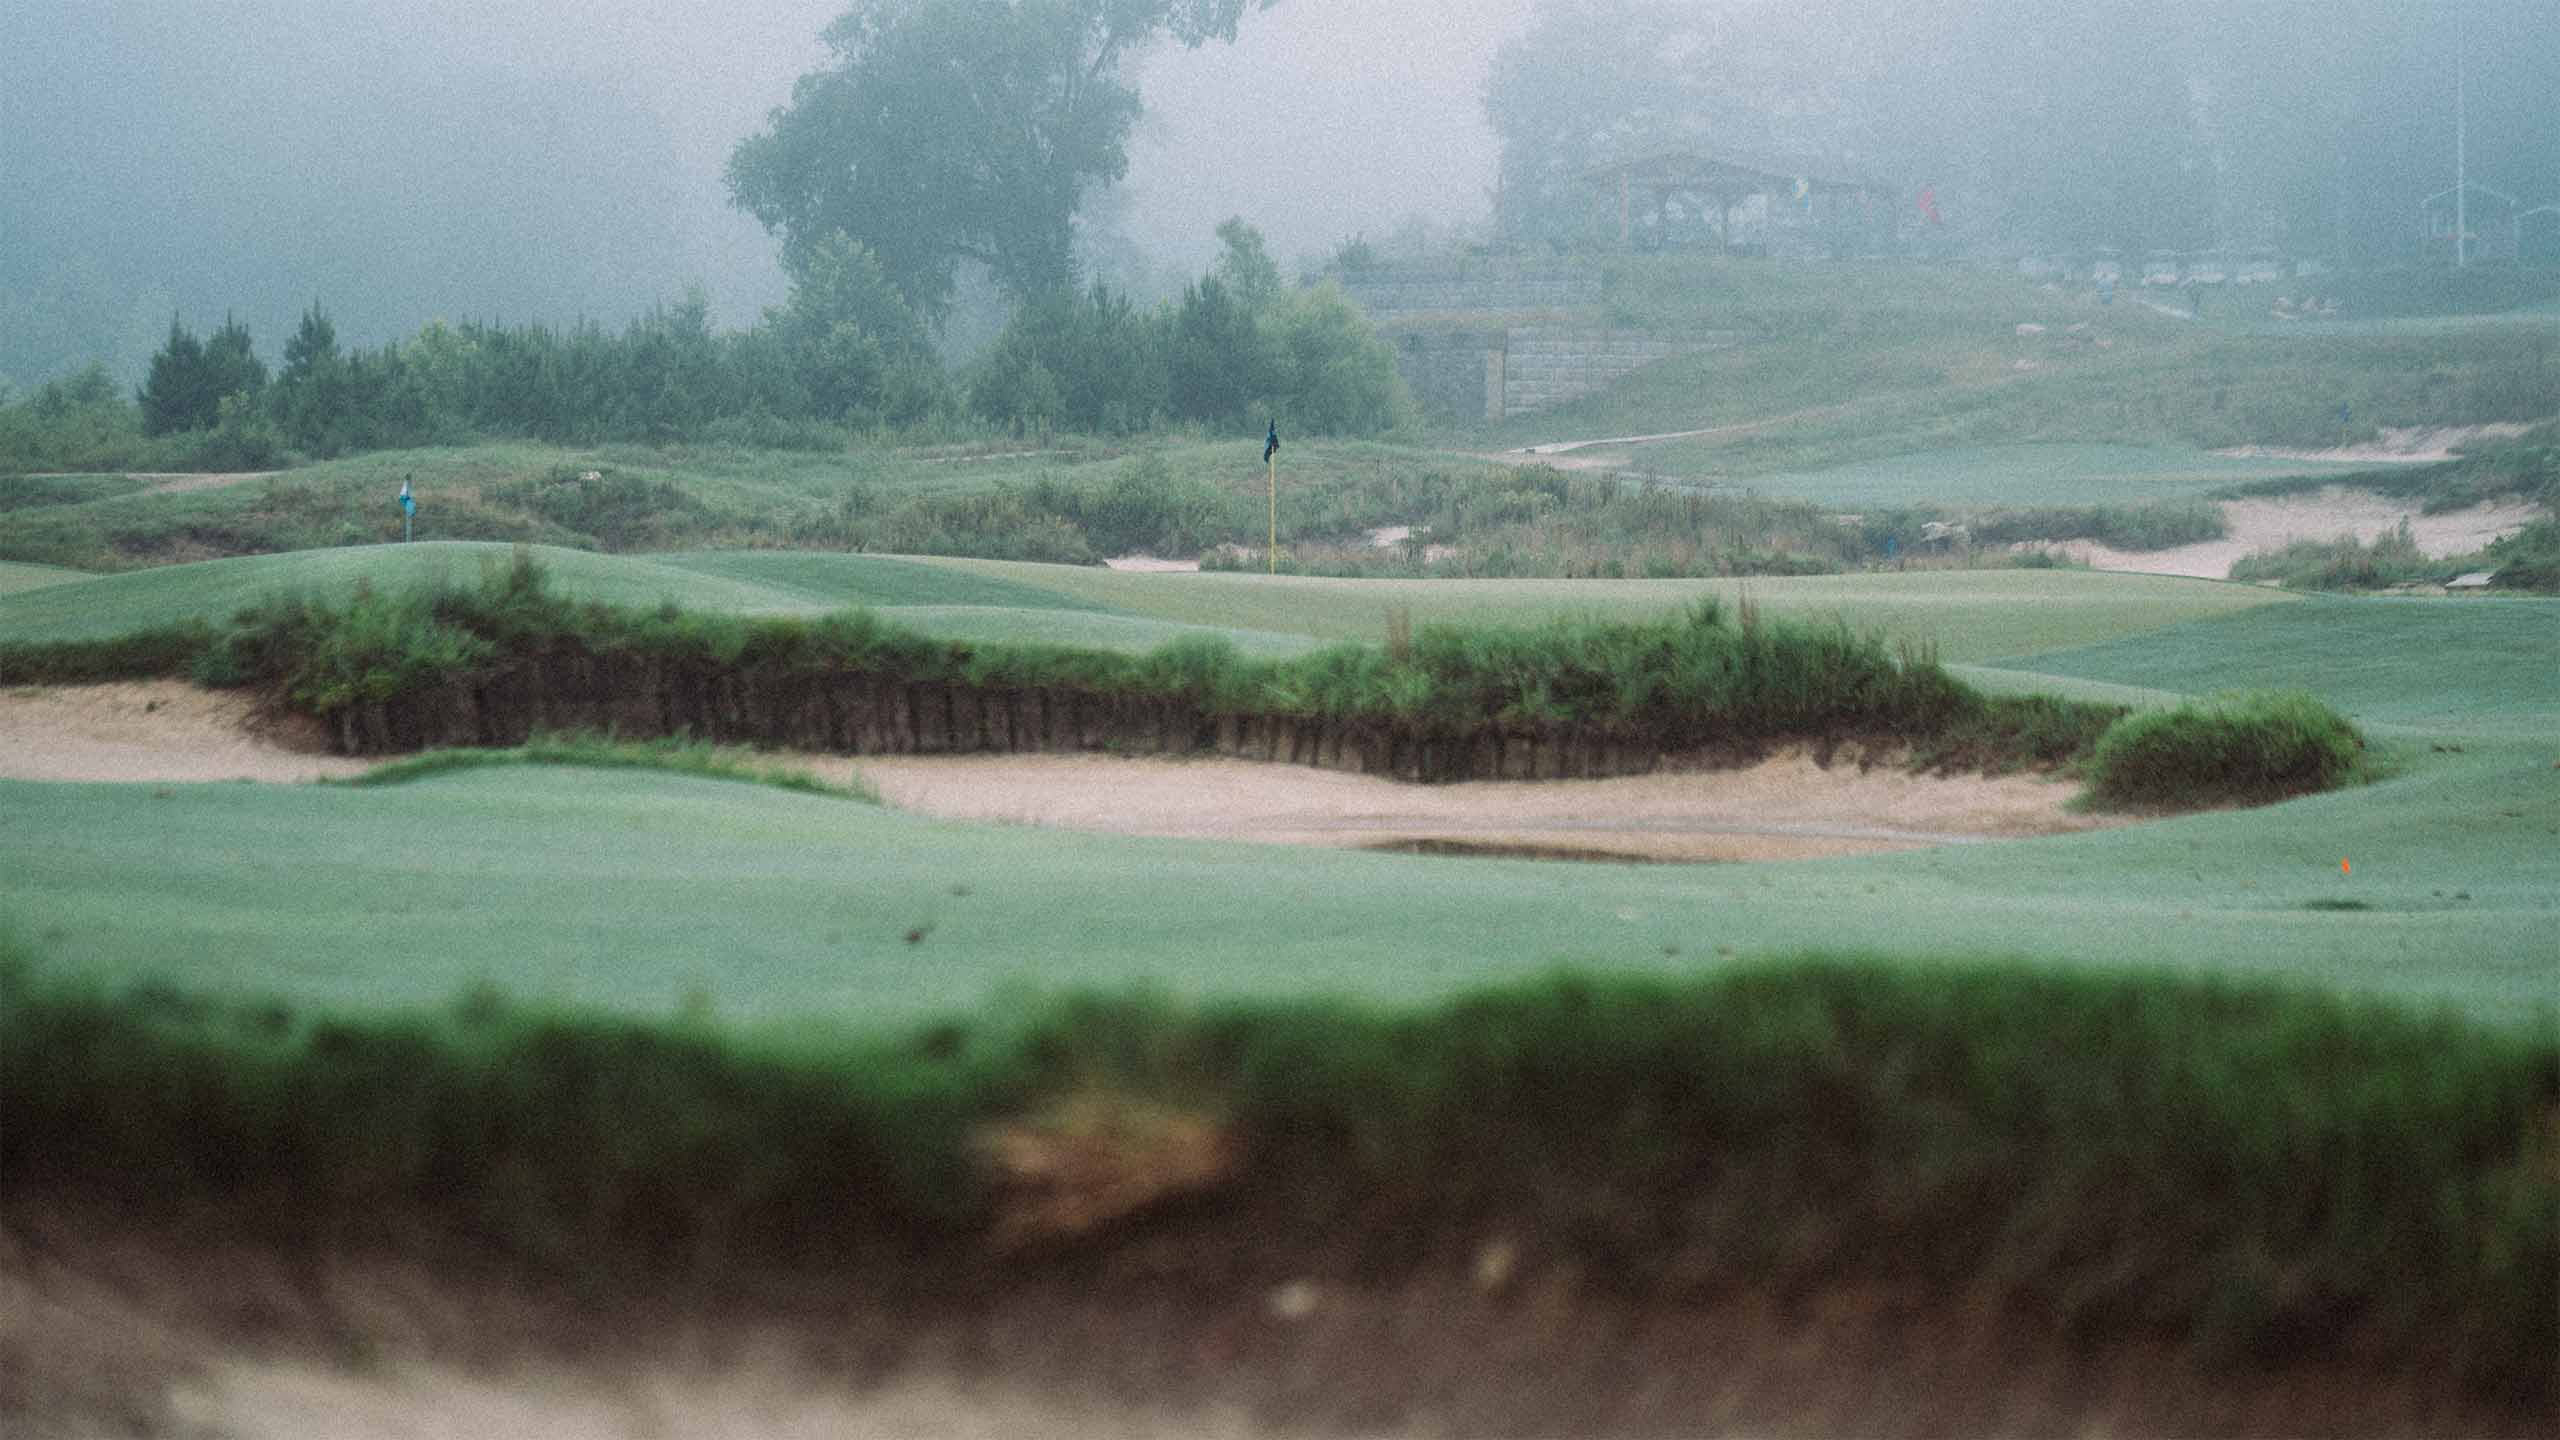
[{"label": "row of dark green bushes and small trees below the tall tree", "polygon": [[745,331],[714,331],[691,292],[620,331],[438,320],[369,348],[340,346],[312,305],[269,372],[238,320],[210,338],[172,320],[131,400],[92,366],[0,407],[0,469],[266,469],[481,436],[819,448],[991,425],[1398,425],[1411,397],[1367,318],[1339,290],[1290,290],[1244,220],[1219,233],[1226,254],[1178,302],[1137,307],[1103,284],[1034,292],[957,372],[842,233],[796,246],[786,305]]}]

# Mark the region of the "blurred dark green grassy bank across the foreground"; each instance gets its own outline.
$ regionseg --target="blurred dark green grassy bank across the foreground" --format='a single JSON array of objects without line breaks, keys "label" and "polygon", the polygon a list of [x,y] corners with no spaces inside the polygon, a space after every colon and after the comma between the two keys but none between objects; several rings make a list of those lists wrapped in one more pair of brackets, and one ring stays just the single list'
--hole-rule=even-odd
[{"label": "blurred dark green grassy bank across the foreground", "polygon": [[325,1017],[0,963],[8,1204],[468,1253],[607,1304],[986,1276],[1001,1194],[973,1135],[1070,1094],[1226,1130],[1242,1166],[1175,1235],[1280,1273],[1321,1250],[1388,1279],[1508,1235],[1633,1297],[1887,1286],[2089,1343],[2552,1396],[2550,1017],[1797,956],[1408,1012],[1068,997],[783,1038],[489,989]]}]

